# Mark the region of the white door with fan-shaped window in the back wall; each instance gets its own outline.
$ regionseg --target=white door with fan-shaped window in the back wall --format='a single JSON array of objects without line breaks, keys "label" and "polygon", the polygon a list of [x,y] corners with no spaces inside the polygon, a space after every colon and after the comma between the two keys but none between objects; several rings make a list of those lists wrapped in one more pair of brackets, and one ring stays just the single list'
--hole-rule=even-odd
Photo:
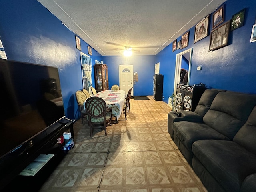
[{"label": "white door with fan-shaped window in the back wall", "polygon": [[[124,90],[126,94],[133,86],[133,65],[119,65],[119,86],[120,90]],[[133,96],[133,89],[131,96]]]}]

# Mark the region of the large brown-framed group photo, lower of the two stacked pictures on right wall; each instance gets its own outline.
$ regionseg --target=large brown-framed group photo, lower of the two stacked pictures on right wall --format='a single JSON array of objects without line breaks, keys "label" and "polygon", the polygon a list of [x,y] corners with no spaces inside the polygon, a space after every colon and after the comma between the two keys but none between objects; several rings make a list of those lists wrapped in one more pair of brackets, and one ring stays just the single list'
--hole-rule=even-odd
[{"label": "large brown-framed group photo, lower of the two stacked pictures on right wall", "polygon": [[230,29],[230,20],[218,28],[212,30],[210,36],[209,51],[216,50],[228,44],[228,35]]}]

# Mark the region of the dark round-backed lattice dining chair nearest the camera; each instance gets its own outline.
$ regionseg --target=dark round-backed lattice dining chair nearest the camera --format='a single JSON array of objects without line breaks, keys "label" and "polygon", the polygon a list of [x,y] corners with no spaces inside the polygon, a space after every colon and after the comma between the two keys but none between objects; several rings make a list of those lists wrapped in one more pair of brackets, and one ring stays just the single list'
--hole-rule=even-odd
[{"label": "dark round-backed lattice dining chair nearest the camera", "polygon": [[85,109],[88,113],[87,120],[90,127],[90,136],[94,128],[104,128],[112,125],[112,110],[107,108],[106,102],[100,97],[89,97],[85,102]]}]

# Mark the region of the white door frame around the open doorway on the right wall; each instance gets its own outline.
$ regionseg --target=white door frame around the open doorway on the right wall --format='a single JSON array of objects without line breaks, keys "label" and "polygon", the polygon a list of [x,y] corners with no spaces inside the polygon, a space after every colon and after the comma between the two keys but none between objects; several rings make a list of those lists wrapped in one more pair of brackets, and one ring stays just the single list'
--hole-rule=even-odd
[{"label": "white door frame around the open doorway on the right wall", "polygon": [[191,68],[191,62],[192,62],[192,53],[193,53],[193,48],[187,49],[183,52],[180,52],[176,54],[176,66],[175,66],[175,76],[174,76],[174,89],[173,89],[173,94],[176,95],[176,90],[177,90],[177,84],[179,81],[180,77],[180,69],[181,69],[181,61],[182,61],[182,56],[185,54],[190,54],[189,56],[189,65],[188,65],[188,84],[190,83],[190,68]]}]

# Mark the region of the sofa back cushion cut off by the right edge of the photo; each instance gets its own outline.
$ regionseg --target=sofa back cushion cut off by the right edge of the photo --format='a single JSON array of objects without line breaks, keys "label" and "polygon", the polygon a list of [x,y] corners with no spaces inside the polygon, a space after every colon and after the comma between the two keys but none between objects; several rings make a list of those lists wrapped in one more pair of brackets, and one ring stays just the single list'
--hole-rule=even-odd
[{"label": "sofa back cushion cut off by the right edge of the photo", "polygon": [[256,154],[256,106],[250,113],[246,123],[234,136],[233,141]]}]

